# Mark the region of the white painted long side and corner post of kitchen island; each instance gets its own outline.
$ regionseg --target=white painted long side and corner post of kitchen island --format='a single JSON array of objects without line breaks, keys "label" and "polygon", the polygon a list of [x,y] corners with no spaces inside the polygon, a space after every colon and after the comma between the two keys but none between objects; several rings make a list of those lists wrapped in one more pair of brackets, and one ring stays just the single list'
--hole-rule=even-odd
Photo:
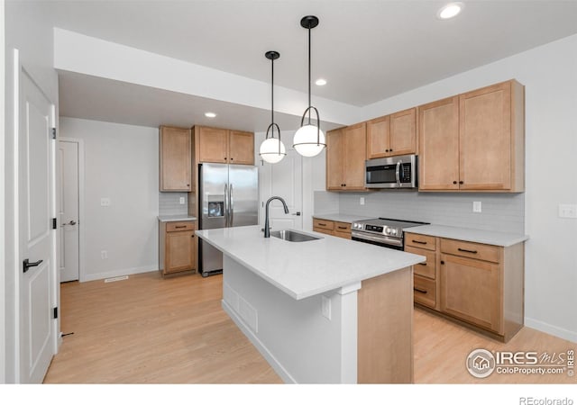
[{"label": "white painted long side and corner post of kitchen island", "polygon": [[[287,269],[286,271],[290,271]],[[223,308],[285,383],[356,383],[357,296],[295,300],[224,255]]]}]

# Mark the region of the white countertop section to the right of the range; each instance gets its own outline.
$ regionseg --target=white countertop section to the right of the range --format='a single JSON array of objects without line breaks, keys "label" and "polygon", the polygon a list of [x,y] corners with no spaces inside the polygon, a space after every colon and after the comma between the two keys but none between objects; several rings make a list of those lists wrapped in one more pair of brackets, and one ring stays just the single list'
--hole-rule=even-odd
[{"label": "white countertop section to the right of the range", "polygon": [[487,245],[496,245],[502,247],[513,246],[517,243],[524,242],[529,238],[527,235],[517,233],[447,227],[444,225],[422,225],[420,227],[409,228],[406,230],[406,232],[439,238],[450,238],[465,240],[468,242],[485,243]]}]

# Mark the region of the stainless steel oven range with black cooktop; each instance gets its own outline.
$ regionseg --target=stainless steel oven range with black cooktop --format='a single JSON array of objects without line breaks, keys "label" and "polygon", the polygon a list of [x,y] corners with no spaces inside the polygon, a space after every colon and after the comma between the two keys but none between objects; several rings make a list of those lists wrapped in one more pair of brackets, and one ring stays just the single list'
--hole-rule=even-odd
[{"label": "stainless steel oven range with black cooktop", "polygon": [[389,218],[358,220],[351,226],[351,238],[359,242],[403,250],[405,247],[404,230],[420,225],[428,225],[428,223]]}]

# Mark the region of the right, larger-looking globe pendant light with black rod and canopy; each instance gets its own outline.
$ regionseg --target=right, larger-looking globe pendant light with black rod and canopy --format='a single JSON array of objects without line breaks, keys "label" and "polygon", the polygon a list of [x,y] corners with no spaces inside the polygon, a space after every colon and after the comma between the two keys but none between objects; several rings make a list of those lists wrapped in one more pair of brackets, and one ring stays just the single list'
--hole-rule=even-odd
[{"label": "right, larger-looking globe pendant light with black rod and canopy", "polygon": [[[320,129],[321,120],[318,116],[318,110],[313,107],[310,101],[310,30],[318,25],[318,18],[314,15],[307,15],[300,20],[300,25],[308,30],[308,108],[303,113],[303,118],[300,120],[300,128],[295,133],[293,148],[302,156],[313,157],[321,153],[326,147],[325,134]],[[312,111],[316,112],[316,125],[310,119]],[[307,113],[308,120],[307,124],[305,124]]]}]

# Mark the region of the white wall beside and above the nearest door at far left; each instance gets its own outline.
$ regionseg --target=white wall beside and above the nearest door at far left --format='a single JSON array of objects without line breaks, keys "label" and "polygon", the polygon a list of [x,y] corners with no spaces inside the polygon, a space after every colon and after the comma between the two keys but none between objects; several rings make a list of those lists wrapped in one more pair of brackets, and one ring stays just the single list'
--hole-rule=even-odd
[{"label": "white wall beside and above the nearest door at far left", "polygon": [[[19,305],[19,258],[14,231],[18,218],[14,211],[14,202],[17,201],[17,189],[15,177],[17,174],[14,145],[14,49],[19,50],[19,60],[32,79],[39,85],[54,103],[58,111],[58,76],[53,68],[53,38],[52,23],[50,17],[50,4],[40,1],[7,1],[5,5],[4,22],[2,30],[5,35],[5,121],[4,134],[0,138],[4,146],[5,170],[2,171],[4,178],[4,218],[5,218],[5,262],[0,266],[4,279],[5,291],[5,379],[0,373],[0,383],[13,383],[19,374],[17,365],[18,348],[18,323],[16,308]],[[4,77],[3,77],[4,81]],[[0,148],[2,151],[2,148]],[[0,283],[0,287],[2,284]],[[3,314],[4,315],[4,314]],[[2,329],[0,329],[2,333]],[[2,338],[0,338],[0,341]]]}]

